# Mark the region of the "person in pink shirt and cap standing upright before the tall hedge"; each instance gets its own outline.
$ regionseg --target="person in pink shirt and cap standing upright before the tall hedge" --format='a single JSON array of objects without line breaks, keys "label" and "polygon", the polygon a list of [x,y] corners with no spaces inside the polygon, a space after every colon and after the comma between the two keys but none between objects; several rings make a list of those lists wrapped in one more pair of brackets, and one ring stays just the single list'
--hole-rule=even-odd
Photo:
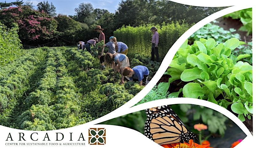
[{"label": "person in pink shirt and cap standing upright before the tall hedge", "polygon": [[153,32],[152,36],[152,47],[151,47],[151,61],[155,60],[155,55],[156,55],[156,61],[159,62],[159,54],[158,54],[158,40],[159,40],[159,35],[157,32],[157,28],[152,27],[150,29]]}]

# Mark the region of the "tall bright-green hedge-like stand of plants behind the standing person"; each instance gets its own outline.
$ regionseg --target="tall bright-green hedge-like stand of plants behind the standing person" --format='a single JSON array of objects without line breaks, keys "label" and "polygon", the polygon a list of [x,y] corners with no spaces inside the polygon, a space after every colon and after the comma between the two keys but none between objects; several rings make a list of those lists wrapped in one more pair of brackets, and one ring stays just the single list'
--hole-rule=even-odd
[{"label": "tall bright-green hedge-like stand of plants behind the standing person", "polygon": [[[121,28],[114,31],[114,36],[117,41],[125,43],[129,50],[128,56],[135,54],[142,54],[146,56],[151,55],[151,40],[152,32],[150,28],[153,25],[146,26],[122,26]],[[171,24],[154,25],[158,28],[159,33],[159,56],[163,59],[170,47],[175,43],[176,40],[189,28],[190,25],[183,23],[182,25],[178,22]]]}]

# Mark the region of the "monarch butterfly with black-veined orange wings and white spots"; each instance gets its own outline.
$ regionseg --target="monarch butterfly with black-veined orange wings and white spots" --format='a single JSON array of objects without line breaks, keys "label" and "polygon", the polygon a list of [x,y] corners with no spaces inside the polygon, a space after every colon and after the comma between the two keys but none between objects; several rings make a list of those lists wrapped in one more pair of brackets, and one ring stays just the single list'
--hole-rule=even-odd
[{"label": "monarch butterfly with black-veined orange wings and white spots", "polygon": [[184,143],[196,137],[189,132],[177,114],[167,105],[146,109],[144,135],[163,145]]}]

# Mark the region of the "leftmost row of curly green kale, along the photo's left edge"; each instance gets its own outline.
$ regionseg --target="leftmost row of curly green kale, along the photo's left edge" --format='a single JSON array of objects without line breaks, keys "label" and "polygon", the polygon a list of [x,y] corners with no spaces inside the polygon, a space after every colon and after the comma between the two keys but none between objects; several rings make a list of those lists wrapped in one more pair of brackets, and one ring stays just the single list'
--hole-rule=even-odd
[{"label": "leftmost row of curly green kale, along the photo's left edge", "polygon": [[45,54],[40,48],[33,49],[14,62],[1,66],[0,70],[0,110],[7,107],[11,99],[23,95],[25,82],[30,71],[35,68]]}]

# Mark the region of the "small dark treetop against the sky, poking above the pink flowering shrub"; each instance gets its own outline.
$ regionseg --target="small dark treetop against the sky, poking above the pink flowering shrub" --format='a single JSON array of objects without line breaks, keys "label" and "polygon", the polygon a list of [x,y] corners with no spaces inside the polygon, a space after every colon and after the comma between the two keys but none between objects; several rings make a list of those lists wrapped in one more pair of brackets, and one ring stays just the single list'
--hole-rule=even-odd
[{"label": "small dark treetop against the sky, poking above the pink flowering shrub", "polygon": [[40,12],[45,12],[46,14],[50,15],[51,17],[54,17],[57,15],[56,13],[56,7],[52,4],[49,4],[48,1],[39,2],[37,4],[37,9]]}]

